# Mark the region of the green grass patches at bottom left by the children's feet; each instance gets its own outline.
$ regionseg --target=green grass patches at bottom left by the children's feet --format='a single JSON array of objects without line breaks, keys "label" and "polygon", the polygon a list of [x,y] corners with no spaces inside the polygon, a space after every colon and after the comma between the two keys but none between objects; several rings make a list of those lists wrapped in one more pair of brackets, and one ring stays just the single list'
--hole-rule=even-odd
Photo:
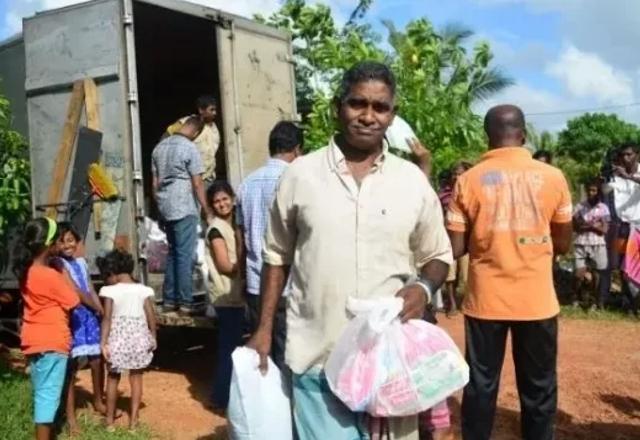
[{"label": "green grass patches at bottom left by the children's feet", "polygon": [[[31,404],[31,382],[25,374],[11,370],[0,359],[0,439],[31,440],[33,434],[33,407]],[[142,427],[136,432],[118,429],[106,432],[96,417],[80,411],[78,413],[82,433],[74,437],[79,440],[148,440],[154,438],[151,431]],[[65,432],[59,437],[66,439]]]}]

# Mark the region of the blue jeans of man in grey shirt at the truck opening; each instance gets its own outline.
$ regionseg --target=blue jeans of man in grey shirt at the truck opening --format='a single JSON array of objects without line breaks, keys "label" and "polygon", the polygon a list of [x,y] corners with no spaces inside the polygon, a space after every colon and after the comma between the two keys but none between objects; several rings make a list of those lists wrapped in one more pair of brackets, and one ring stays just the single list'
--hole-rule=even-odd
[{"label": "blue jeans of man in grey shirt at the truck opening", "polygon": [[164,275],[164,304],[191,307],[193,303],[193,255],[198,240],[198,217],[189,215],[163,224],[169,242]]}]

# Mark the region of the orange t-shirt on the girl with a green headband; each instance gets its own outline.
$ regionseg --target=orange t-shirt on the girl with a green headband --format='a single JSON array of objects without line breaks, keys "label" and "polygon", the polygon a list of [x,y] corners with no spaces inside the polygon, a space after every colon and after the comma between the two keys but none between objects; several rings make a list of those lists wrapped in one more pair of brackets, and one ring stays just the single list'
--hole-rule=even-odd
[{"label": "orange t-shirt on the girl with a green headband", "polygon": [[63,275],[46,266],[31,266],[22,286],[24,316],[22,350],[25,354],[71,349],[69,311],[80,302]]}]

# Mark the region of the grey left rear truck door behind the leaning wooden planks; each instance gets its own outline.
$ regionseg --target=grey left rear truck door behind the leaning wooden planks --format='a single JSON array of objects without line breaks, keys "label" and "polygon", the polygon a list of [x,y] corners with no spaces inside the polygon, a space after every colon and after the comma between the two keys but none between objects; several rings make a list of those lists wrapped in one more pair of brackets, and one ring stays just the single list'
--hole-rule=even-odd
[{"label": "grey left rear truck door behind the leaning wooden planks", "polygon": [[[24,22],[27,112],[34,208],[48,202],[49,187],[75,80],[93,78],[98,87],[103,164],[112,172],[121,194],[130,163],[127,87],[123,48],[123,12],[120,0],[99,0],[37,14]],[[86,124],[83,111],[80,125]],[[75,148],[74,148],[75,150]],[[73,164],[73,155],[71,164]],[[68,167],[61,200],[65,202],[73,170]],[[59,184],[60,182],[55,182]],[[105,209],[107,209],[105,207]],[[114,219],[119,232],[130,234],[133,215],[125,202]],[[134,239],[135,234],[131,234]],[[94,240],[92,222],[87,255],[104,243]]]}]

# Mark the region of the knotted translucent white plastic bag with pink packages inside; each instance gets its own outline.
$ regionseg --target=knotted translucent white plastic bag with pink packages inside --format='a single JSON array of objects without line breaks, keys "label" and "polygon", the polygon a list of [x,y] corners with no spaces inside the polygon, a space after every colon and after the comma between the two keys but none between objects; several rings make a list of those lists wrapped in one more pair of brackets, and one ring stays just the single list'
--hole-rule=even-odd
[{"label": "knotted translucent white plastic bag with pink packages inside", "polygon": [[421,413],[469,381],[469,367],[453,340],[422,320],[400,322],[402,299],[381,300],[356,317],[325,365],[333,393],[352,411],[375,417]]}]

